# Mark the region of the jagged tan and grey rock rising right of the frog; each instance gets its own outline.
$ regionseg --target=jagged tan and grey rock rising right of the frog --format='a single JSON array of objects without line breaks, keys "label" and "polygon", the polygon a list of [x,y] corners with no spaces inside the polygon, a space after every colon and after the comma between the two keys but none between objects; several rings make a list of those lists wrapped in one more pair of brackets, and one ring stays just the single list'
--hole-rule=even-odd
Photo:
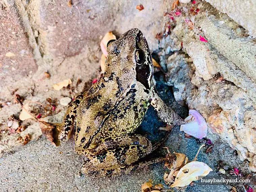
[{"label": "jagged tan and grey rock rising right of the frog", "polygon": [[[182,6],[178,8],[185,10]],[[168,41],[171,45],[183,42],[183,51],[193,63],[178,52],[169,59],[160,57],[161,65],[167,66],[167,84],[176,88],[176,100],[185,101],[206,119],[208,137],[219,135],[241,159],[248,159],[255,171],[256,43],[210,4],[197,7],[196,15],[184,13],[185,17],[175,17],[175,22],[169,20],[174,28]],[[168,46],[161,47],[165,53]]]}]

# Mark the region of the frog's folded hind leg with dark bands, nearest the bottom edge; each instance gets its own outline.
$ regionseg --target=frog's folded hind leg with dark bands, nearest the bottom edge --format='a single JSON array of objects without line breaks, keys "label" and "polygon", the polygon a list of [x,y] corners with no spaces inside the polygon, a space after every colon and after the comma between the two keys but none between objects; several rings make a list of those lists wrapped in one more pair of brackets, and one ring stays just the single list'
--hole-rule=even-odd
[{"label": "frog's folded hind leg with dark bands, nearest the bottom edge", "polygon": [[[119,137],[113,138],[114,141],[120,141],[117,142],[119,146],[115,142],[112,147],[103,144],[104,147],[102,147],[104,149],[107,147],[108,149],[106,151],[100,149],[101,153],[85,161],[82,165],[82,173],[90,177],[105,177],[107,175],[128,173],[146,164],[163,161],[162,158],[158,158],[138,162],[139,159],[152,152],[152,144],[146,137],[141,135],[126,137],[129,138],[126,140],[123,140],[123,138],[119,140]],[[133,139],[136,137],[137,139]]]}]

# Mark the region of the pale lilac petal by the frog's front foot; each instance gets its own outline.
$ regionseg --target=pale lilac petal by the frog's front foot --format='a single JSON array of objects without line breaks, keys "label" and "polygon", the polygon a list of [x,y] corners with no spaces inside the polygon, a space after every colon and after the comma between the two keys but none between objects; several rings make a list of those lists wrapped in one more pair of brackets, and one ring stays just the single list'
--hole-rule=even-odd
[{"label": "pale lilac petal by the frog's front foot", "polygon": [[189,110],[189,115],[185,121],[191,120],[192,117],[194,119],[187,124],[181,125],[180,130],[199,139],[206,137],[207,124],[204,118],[196,110]]}]

